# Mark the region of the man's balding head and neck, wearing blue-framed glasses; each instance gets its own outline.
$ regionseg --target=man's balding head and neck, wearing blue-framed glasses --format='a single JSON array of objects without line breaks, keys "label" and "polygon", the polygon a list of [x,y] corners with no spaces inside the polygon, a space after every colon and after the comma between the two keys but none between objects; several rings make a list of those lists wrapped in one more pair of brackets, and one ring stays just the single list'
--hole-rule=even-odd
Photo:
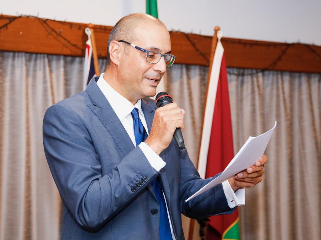
[{"label": "man's balding head and neck, wearing blue-framed glasses", "polygon": [[[103,78],[134,105],[139,99],[156,94],[166,72],[164,54],[170,52],[169,32],[160,20],[146,14],[128,15],[110,33]],[[151,62],[155,58],[158,61]]]}]

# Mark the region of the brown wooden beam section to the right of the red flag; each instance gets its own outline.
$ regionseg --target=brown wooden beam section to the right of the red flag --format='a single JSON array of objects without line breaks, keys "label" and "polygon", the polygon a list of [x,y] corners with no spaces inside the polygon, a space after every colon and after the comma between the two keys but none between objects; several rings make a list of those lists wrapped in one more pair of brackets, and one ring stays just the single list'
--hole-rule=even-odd
[{"label": "brown wooden beam section to the right of the red flag", "polygon": [[321,46],[233,38],[222,38],[221,41],[230,68],[321,73]]}]

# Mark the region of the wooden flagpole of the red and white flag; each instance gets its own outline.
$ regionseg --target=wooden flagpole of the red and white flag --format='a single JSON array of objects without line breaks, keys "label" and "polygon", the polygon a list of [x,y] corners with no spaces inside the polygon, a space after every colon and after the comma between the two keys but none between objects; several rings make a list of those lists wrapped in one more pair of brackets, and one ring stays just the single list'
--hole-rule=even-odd
[{"label": "wooden flagpole of the red and white flag", "polygon": [[[210,78],[211,78],[211,71],[212,71],[212,65],[213,65],[213,60],[214,60],[214,54],[215,54],[215,49],[216,49],[216,45],[217,45],[217,42],[218,42],[217,32],[219,30],[220,30],[219,26],[216,26],[214,28],[214,36],[212,38],[211,57],[210,57],[209,68],[208,68],[206,95],[205,95],[205,102],[204,102],[204,106],[205,107],[206,107],[206,101],[207,101],[208,87],[210,85]],[[197,159],[197,163],[196,163],[196,168],[197,169],[198,169],[199,154],[200,154],[200,149],[201,149],[201,144],[202,144],[201,140],[202,140],[203,126],[204,126],[205,107],[204,107],[204,111],[203,111],[203,123],[202,123],[202,129],[201,129],[200,143],[199,143],[199,146],[198,146],[198,159]],[[195,219],[191,219],[191,221],[189,223],[188,240],[193,240],[194,228],[195,228]]]}]

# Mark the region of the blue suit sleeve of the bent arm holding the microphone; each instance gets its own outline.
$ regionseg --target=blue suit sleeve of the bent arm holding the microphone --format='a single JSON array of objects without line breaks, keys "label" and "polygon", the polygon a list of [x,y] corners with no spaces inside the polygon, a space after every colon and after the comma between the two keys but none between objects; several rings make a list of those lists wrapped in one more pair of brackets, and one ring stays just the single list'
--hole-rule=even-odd
[{"label": "blue suit sleeve of the bent arm holding the microphone", "polygon": [[[63,203],[86,229],[101,228],[159,174],[136,147],[119,159],[110,174],[102,175],[103,159],[96,154],[89,132],[80,118],[63,105],[48,108],[43,121],[43,144]],[[133,189],[140,180],[142,186]]]}]

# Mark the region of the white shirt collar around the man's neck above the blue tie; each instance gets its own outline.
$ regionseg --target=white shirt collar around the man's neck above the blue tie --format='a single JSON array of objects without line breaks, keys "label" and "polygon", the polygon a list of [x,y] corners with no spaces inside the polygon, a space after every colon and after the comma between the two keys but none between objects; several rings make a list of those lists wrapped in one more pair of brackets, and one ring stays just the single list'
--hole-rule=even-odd
[{"label": "white shirt collar around the man's neck above the blue tie", "polygon": [[102,73],[97,81],[97,85],[100,88],[101,92],[107,98],[110,106],[115,111],[117,117],[120,121],[123,121],[126,116],[128,116],[134,108],[137,108],[139,113],[144,116],[142,107],[141,107],[141,99],[138,100],[135,105],[133,105],[130,101],[120,95],[115,89],[113,89],[103,78],[105,73]]}]

